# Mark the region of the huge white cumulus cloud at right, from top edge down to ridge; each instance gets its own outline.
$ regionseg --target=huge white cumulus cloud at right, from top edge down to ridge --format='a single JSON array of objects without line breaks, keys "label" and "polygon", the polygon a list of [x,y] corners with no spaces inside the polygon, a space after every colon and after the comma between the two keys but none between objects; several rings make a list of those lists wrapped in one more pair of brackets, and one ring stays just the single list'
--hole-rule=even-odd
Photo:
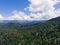
[{"label": "huge white cumulus cloud at right, from top edge down to ridge", "polygon": [[[60,0],[28,0],[30,5],[25,8],[31,12],[32,19],[49,20],[54,17],[60,16],[60,9],[55,10],[54,5]],[[36,13],[37,12],[37,13]]]}]

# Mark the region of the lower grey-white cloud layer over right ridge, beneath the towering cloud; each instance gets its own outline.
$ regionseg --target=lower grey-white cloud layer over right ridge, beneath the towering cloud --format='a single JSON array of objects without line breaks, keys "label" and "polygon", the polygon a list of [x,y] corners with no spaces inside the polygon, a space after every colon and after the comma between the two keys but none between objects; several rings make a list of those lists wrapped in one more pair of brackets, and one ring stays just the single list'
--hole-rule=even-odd
[{"label": "lower grey-white cloud layer over right ridge, beneath the towering cloud", "polygon": [[60,16],[60,10],[58,11],[53,11],[49,10],[44,13],[36,13],[36,14],[31,14],[30,17],[32,17],[35,20],[49,20],[51,18],[55,18]]}]

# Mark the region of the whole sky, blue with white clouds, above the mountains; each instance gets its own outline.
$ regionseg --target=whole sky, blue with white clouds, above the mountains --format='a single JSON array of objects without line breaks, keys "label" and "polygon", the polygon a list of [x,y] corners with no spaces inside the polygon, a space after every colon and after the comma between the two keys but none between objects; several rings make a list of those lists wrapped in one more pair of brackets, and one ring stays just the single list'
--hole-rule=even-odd
[{"label": "whole sky, blue with white clouds, above the mountains", "polygon": [[49,20],[60,16],[60,0],[0,0],[0,20]]}]

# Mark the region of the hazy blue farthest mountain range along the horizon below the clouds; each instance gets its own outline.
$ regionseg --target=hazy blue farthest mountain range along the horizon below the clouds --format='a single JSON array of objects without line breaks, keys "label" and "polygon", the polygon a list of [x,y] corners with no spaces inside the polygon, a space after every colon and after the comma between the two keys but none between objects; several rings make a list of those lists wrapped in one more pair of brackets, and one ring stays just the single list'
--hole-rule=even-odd
[{"label": "hazy blue farthest mountain range along the horizon below the clouds", "polygon": [[2,20],[0,24],[7,24],[7,23],[19,23],[19,24],[35,24],[39,22],[45,22],[46,20]]}]

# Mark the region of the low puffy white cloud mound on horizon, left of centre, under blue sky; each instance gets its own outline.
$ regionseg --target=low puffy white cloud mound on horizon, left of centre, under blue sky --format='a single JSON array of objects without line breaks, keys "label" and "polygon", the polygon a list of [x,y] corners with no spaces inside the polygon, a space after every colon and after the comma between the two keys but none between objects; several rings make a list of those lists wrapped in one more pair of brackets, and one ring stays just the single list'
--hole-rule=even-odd
[{"label": "low puffy white cloud mound on horizon, left of centre, under blue sky", "polygon": [[22,11],[13,11],[13,16],[8,17],[9,20],[31,20],[30,16],[27,16]]}]

